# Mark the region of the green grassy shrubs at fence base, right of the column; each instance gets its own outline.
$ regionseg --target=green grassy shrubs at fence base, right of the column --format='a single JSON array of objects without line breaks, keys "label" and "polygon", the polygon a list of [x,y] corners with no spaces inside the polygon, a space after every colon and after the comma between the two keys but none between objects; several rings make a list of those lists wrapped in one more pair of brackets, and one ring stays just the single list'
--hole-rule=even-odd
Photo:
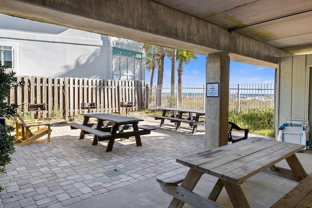
[{"label": "green grassy shrubs at fence base, right of the column", "polygon": [[249,129],[249,132],[273,137],[274,110],[252,109],[245,113],[229,112],[229,121],[241,128]]}]

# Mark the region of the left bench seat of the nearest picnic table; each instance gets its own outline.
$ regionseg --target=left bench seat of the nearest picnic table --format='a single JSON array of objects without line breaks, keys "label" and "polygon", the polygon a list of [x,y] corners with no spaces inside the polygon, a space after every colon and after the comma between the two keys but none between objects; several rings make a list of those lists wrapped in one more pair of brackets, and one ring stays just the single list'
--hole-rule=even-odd
[{"label": "left bench seat of the nearest picnic table", "polygon": [[[211,199],[207,199],[192,190],[188,190],[178,185],[183,182],[189,170],[190,168],[188,167],[182,167],[160,174],[157,176],[157,182],[164,192],[193,207],[225,208]],[[175,205],[170,204],[169,207],[175,207]]]}]

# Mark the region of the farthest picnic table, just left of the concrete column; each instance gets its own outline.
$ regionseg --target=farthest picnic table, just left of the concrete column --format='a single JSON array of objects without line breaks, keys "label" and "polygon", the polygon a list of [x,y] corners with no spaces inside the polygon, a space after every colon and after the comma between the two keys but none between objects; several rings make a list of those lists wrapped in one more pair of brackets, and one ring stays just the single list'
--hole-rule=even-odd
[{"label": "farthest picnic table, just left of the concrete column", "polygon": [[[189,123],[190,126],[193,126],[192,133],[196,133],[197,126],[205,124],[205,121],[199,121],[200,116],[205,115],[205,111],[179,108],[159,108],[159,110],[162,111],[162,115],[153,116],[155,120],[161,119],[160,127],[163,126],[165,119],[168,119],[171,122],[176,123],[176,130],[180,129],[181,122],[185,122]],[[170,115],[167,115],[168,112],[170,112]],[[193,113],[195,114],[195,116],[193,115]]]}]

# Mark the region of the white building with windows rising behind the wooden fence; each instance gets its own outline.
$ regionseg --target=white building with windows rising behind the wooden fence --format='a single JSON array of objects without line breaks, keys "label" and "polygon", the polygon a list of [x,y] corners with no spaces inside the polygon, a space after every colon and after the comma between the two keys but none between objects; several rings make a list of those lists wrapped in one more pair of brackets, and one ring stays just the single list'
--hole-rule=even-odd
[{"label": "white building with windows rising behind the wooden fence", "polygon": [[17,76],[145,79],[143,43],[3,14],[0,53]]}]

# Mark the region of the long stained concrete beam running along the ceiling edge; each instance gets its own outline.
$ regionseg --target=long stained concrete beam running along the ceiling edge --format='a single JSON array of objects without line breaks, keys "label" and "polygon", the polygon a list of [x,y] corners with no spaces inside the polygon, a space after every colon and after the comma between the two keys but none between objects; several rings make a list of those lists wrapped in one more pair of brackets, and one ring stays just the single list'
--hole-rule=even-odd
[{"label": "long stained concrete beam running along the ceiling edge", "polygon": [[152,0],[0,0],[0,13],[232,60],[277,66],[292,56]]}]

